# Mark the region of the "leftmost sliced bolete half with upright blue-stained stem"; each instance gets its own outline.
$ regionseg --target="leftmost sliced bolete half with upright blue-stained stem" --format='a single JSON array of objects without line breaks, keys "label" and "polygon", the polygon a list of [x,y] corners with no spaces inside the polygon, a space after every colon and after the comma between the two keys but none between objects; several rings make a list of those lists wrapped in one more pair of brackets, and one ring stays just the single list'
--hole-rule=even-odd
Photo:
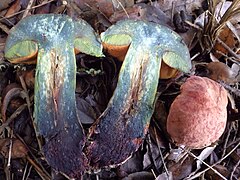
[{"label": "leftmost sliced bolete half with upright blue-stained stem", "polygon": [[103,56],[101,43],[85,21],[45,14],[29,16],[12,28],[5,57],[12,63],[25,63],[37,56],[36,134],[45,139],[42,150],[49,165],[71,178],[80,178],[87,160],[75,104],[74,51]]}]

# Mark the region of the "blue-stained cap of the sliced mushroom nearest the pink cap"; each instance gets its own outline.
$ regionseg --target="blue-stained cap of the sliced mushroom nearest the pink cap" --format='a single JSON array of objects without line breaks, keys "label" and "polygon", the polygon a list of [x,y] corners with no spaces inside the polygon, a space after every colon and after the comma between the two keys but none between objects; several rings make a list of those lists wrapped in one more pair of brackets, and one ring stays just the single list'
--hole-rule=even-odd
[{"label": "blue-stained cap of the sliced mushroom nearest the pink cap", "polygon": [[165,65],[160,78],[166,79],[176,75],[177,70],[189,72],[190,55],[182,38],[171,29],[151,22],[140,20],[123,20],[111,26],[101,34],[103,47],[120,61],[126,56],[130,45],[146,46],[154,56],[163,59]]}]

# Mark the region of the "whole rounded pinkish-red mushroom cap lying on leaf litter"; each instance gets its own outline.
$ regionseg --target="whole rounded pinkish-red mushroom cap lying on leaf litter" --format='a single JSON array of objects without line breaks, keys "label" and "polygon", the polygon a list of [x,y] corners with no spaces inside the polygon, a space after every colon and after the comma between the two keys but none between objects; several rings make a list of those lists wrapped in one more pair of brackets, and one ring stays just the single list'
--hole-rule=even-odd
[{"label": "whole rounded pinkish-red mushroom cap lying on leaf litter", "polygon": [[227,91],[219,83],[206,77],[188,78],[167,118],[172,140],[193,149],[217,141],[225,130],[227,103]]}]

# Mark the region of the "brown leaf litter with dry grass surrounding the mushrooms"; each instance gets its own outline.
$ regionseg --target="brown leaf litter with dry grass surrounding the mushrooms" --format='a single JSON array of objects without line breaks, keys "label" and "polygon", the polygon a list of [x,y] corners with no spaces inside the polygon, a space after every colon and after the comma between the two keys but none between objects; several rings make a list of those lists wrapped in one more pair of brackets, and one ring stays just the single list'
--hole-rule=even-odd
[{"label": "brown leaf litter with dry grass surrounding the mushrooms", "polygon": [[[128,18],[159,24],[164,22],[164,25],[186,37],[184,40],[191,53],[193,69],[190,74],[159,81],[159,96],[149,133],[138,151],[124,164],[85,174],[84,179],[240,177],[238,18],[240,3],[237,0],[224,3],[218,3],[216,0],[208,2],[195,0],[193,4],[174,0],[171,3],[164,2],[8,0],[1,3],[0,179],[66,179],[61,174],[53,172],[54,170],[51,170],[44,160],[38,147],[39,139],[36,138],[33,129],[35,66],[28,65],[26,69],[13,67],[4,59],[3,48],[9,29],[23,16],[36,13],[59,13],[68,14],[73,18],[83,18],[99,33],[105,31],[111,24]],[[186,14],[183,14],[183,11]],[[112,96],[121,62],[110,56],[100,60],[84,54],[76,57],[77,107],[79,116],[86,117],[84,118],[86,121],[82,123],[87,133],[91,124],[105,110]],[[235,105],[234,108],[233,106],[227,108],[227,127],[217,144],[199,150],[185,150],[176,147],[170,140],[166,131],[166,119],[173,100],[179,94],[180,86],[193,74],[209,77],[222,84]]]}]

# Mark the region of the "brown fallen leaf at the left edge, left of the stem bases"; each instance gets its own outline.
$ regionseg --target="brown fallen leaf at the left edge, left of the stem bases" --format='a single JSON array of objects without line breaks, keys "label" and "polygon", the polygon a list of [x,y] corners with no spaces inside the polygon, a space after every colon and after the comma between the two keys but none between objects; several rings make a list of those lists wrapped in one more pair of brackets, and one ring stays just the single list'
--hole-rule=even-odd
[{"label": "brown fallen leaf at the left edge, left of the stem bases", "polygon": [[[10,147],[12,147],[11,150]],[[11,158],[16,159],[26,157],[28,149],[19,139],[6,138],[0,139],[0,152],[5,158],[8,158],[11,152]]]}]

